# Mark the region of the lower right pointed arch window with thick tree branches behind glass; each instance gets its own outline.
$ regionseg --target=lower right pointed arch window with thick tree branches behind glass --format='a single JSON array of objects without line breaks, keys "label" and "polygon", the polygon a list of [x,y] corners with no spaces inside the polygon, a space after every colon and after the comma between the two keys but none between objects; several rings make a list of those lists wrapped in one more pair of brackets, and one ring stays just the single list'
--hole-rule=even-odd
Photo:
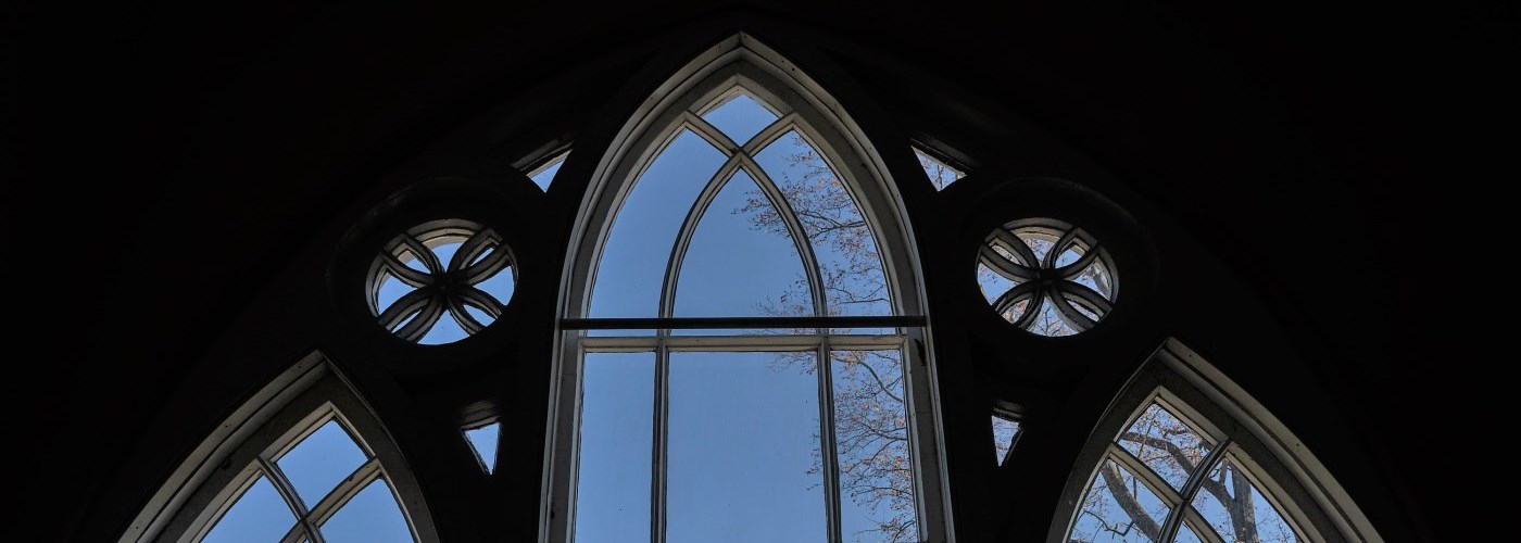
[{"label": "lower right pointed arch window with thick tree branches behind glass", "polygon": [[1176,339],[1095,429],[1049,540],[1381,541],[1293,432]]}]

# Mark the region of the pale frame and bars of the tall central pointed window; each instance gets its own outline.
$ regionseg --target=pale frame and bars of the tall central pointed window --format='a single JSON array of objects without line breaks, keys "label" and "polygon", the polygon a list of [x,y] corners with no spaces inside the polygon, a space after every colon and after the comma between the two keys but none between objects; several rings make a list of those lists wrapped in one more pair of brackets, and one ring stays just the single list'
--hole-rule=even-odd
[{"label": "pale frame and bars of the tall central pointed window", "polygon": [[[730,141],[716,128],[701,119],[701,113],[713,103],[721,103],[736,88],[757,97],[773,113],[779,116],[750,144]],[[578,219],[570,234],[566,266],[563,268],[560,297],[560,315],[563,316],[557,329],[557,348],[554,362],[555,389],[549,409],[549,443],[546,444],[545,496],[540,514],[541,541],[567,541],[573,534],[573,502],[575,502],[575,467],[578,458],[578,426],[581,397],[581,360],[589,351],[627,351],[648,350],[660,351],[694,348],[694,350],[814,350],[820,351],[827,362],[830,348],[837,350],[881,350],[891,348],[902,351],[907,382],[907,411],[913,421],[908,429],[910,455],[916,473],[916,510],[919,519],[919,538],[943,541],[954,538],[951,523],[949,490],[946,488],[946,472],[941,438],[941,414],[938,402],[938,386],[935,386],[935,365],[928,353],[928,312],[923,298],[923,280],[920,274],[917,245],[911,228],[905,224],[902,196],[899,195],[893,176],[881,157],[872,146],[865,132],[837,103],[824,88],[797,65],[779,55],[754,38],[738,33],[722,40],[716,46],[700,53],[674,76],[665,81],[653,93],[654,99],[643,102],[622,125],[614,137],[614,143],[604,152],[595,167],[595,173],[587,186],[581,202]],[[799,242],[800,257],[805,266],[811,266],[811,281],[815,284],[814,316],[803,318],[715,318],[686,319],[712,327],[818,327],[812,336],[671,336],[668,335],[674,321],[671,318],[671,300],[674,298],[674,269],[668,266],[662,292],[660,316],[649,319],[595,319],[589,318],[590,298],[596,281],[598,262],[602,254],[602,243],[611,231],[616,211],[622,207],[634,186],[634,179],[645,172],[659,154],[683,129],[691,129],[729,158],[721,172],[736,167],[736,161],[748,161],[753,172],[760,167],[753,164],[751,152],[759,152],[770,141],[794,128],[802,137],[817,149],[824,161],[844,178],[846,190],[861,207],[861,214],[867,221],[875,236],[878,254],[882,259],[882,272],[891,292],[891,315],[888,316],[823,316],[826,304],[820,298],[817,262],[809,256],[806,236],[792,225],[794,240]],[[745,155],[745,157],[741,157]],[[724,175],[724,173],[718,173]],[[706,195],[712,196],[712,195]],[[776,196],[776,195],[773,195]],[[780,202],[779,198],[776,198]],[[703,205],[701,198],[695,205]],[[780,204],[785,207],[785,204]],[[697,207],[694,207],[695,210]],[[689,214],[691,216],[691,214]],[[689,228],[683,228],[689,236]],[[678,251],[672,252],[672,265]],[[726,322],[727,321],[727,322]],[[762,322],[765,321],[765,322]],[[689,324],[692,324],[689,322]],[[698,327],[698,325],[689,325]],[[887,327],[893,333],[876,336],[832,336],[832,327]],[[595,329],[651,329],[660,330],[657,335],[624,338],[586,335]],[[827,373],[829,364],[821,364],[821,373]],[[823,377],[827,380],[829,377]],[[824,409],[823,418],[830,418]],[[657,418],[660,415],[657,414]],[[830,424],[832,423],[826,423]],[[665,427],[657,427],[657,438]],[[826,435],[824,447],[830,447],[832,437]],[[838,468],[835,468],[838,470]],[[829,485],[838,485],[829,479]],[[659,490],[657,490],[659,491]],[[838,497],[838,488],[830,490]],[[656,497],[657,500],[662,497]],[[827,499],[827,497],[826,497]],[[838,503],[830,508],[830,534],[838,538]],[[656,519],[663,523],[663,519]],[[663,528],[656,526],[657,534]]]}]

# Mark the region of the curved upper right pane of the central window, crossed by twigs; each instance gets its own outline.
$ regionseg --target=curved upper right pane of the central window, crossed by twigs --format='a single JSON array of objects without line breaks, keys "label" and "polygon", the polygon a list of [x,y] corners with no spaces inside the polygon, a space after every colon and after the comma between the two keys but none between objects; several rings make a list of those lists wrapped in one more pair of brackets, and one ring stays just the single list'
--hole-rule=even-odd
[{"label": "curved upper right pane of the central window, crossed by twigs", "polygon": [[824,278],[829,315],[890,315],[887,275],[872,228],[818,149],[791,131],[760,151],[756,161],[803,222]]}]

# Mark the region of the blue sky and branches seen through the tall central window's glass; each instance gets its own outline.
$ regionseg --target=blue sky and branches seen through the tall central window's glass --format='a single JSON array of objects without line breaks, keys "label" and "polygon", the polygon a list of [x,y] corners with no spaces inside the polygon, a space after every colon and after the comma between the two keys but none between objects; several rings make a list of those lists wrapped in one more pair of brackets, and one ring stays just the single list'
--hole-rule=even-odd
[{"label": "blue sky and branches seen through the tall central window's glass", "polygon": [[[703,119],[744,144],[779,117],[738,94]],[[806,126],[776,129],[753,163],[678,129],[616,210],[587,316],[891,315],[872,224],[846,179]],[[668,277],[674,298],[660,315]],[[672,543],[829,541],[832,500],[844,541],[919,540],[900,350],[646,348],[657,351],[583,357],[575,541],[649,540],[654,520]]]}]

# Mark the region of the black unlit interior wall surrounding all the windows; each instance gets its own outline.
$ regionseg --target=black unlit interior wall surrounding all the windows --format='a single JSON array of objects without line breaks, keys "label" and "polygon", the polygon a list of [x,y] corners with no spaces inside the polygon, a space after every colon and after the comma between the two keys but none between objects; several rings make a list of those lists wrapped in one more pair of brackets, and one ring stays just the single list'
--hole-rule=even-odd
[{"label": "black unlit interior wall surrounding all the windows", "polygon": [[[1410,429],[1462,415],[1465,392],[1428,370],[1445,329],[1415,318],[1437,303],[1428,274],[1402,265],[1413,245],[1436,245],[1425,221],[1440,195],[1404,181],[1445,114],[1431,105],[1448,103],[1431,94],[1445,87],[1436,81],[1484,64],[1439,55],[1457,49],[1439,38],[1504,35],[1503,12],[970,2],[11,11],[23,15],[11,23],[23,40],[11,46],[20,99],[8,123],[21,167],[5,183],[6,221],[26,256],[11,268],[32,277],[18,300],[38,327],[23,338],[58,348],[12,354],[27,376],[8,380],[6,395],[24,414],[24,496],[43,540],[114,537],[225,412],[312,348],[348,354],[339,362],[388,424],[415,440],[424,485],[458,484],[430,494],[452,540],[532,534],[537,508],[523,505],[538,493],[543,443],[532,399],[548,388],[538,360],[558,272],[531,278],[546,289],[514,301],[520,325],[491,348],[395,377],[370,357],[405,354],[367,347],[332,318],[333,251],[420,178],[520,189],[505,164],[551,141],[605,138],[610,113],[656,81],[651,62],[698,47],[715,24],[809,43],[815,76],[873,135],[937,140],[981,166],[940,195],[905,190],[916,234],[945,242],[926,249],[925,275],[937,354],[954,367],[946,386],[1031,409],[1028,440],[995,472],[981,462],[984,395],[948,405],[963,537],[1043,535],[1094,417],[1167,335],[1284,418],[1387,538],[1443,534],[1433,496],[1451,482],[1421,467],[1457,452],[1411,443]],[[894,176],[913,178],[902,148],[884,154]],[[589,173],[590,158],[567,173]],[[999,210],[1075,198],[1021,181],[1031,176],[1103,195],[1124,211],[1115,228],[1151,243],[1144,306],[1071,348],[998,329],[960,269],[970,263],[957,251],[1011,219]],[[517,189],[499,196],[538,234],[523,251],[552,263],[580,195]],[[1411,399],[1424,409],[1407,409]],[[523,420],[510,453],[520,456],[503,458],[517,470],[485,482],[458,467],[468,452],[449,432],[473,411]]]}]

